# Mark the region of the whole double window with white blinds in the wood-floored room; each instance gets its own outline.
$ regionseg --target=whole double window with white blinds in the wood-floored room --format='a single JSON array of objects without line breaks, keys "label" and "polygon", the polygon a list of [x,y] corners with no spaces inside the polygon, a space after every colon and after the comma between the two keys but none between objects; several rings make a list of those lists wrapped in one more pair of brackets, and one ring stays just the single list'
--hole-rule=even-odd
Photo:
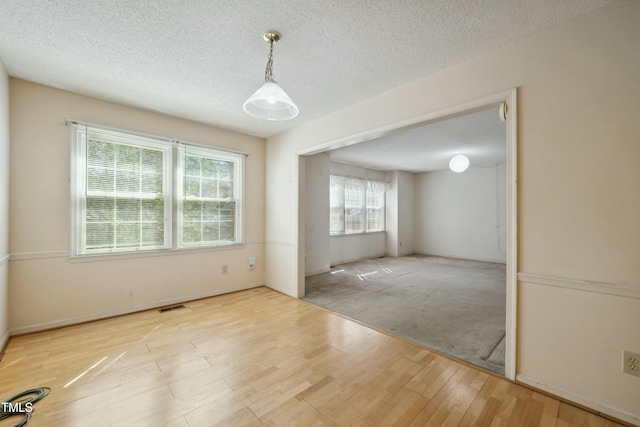
[{"label": "whole double window with white blinds in the wood-floored room", "polygon": [[72,144],[73,255],[241,242],[242,155],[77,124]]}]

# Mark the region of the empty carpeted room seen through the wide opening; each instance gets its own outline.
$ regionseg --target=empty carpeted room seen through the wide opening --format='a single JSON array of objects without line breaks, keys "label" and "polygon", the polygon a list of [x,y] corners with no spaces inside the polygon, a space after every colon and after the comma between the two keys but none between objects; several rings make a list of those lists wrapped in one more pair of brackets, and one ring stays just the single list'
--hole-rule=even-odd
[{"label": "empty carpeted room seen through the wide opening", "polygon": [[[499,115],[493,106],[307,157],[305,299],[504,374]],[[470,163],[454,171],[460,155]]]}]

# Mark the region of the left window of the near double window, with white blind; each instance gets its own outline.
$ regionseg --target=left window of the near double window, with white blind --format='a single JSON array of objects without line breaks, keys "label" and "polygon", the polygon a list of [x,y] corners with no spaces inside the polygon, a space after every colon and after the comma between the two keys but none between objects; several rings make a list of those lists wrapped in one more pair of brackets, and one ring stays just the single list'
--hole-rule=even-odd
[{"label": "left window of the near double window, with white blind", "polygon": [[77,252],[167,248],[170,146],[86,126],[75,133]]}]

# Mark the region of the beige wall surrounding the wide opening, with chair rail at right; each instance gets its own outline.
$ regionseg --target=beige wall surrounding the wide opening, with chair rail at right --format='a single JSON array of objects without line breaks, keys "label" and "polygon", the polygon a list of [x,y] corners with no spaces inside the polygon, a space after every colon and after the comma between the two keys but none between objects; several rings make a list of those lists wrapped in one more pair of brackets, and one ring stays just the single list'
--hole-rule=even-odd
[{"label": "beige wall surrounding the wide opening, with chair rail at right", "polygon": [[299,289],[297,152],[518,87],[518,378],[640,423],[639,22],[614,2],[268,139],[267,284]]}]

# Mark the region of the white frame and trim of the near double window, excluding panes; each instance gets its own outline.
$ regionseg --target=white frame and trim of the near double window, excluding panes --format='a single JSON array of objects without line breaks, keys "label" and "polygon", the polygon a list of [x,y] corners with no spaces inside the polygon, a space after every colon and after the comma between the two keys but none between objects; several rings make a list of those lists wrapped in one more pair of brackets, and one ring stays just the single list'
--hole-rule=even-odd
[{"label": "white frame and trim of the near double window, excluding panes", "polygon": [[[224,148],[213,147],[204,144],[195,144],[177,139],[167,139],[153,135],[136,133],[123,129],[115,129],[107,126],[71,122],[65,119],[65,124],[71,128],[71,250],[72,259],[95,259],[100,257],[128,258],[137,255],[153,255],[170,253],[173,251],[193,251],[224,249],[244,245],[244,162],[247,153],[232,151]],[[132,248],[108,248],[86,249],[85,233],[86,213],[83,212],[83,191],[86,189],[89,164],[86,157],[88,147],[87,136],[90,132],[109,134],[114,137],[114,144],[131,146],[145,146],[163,152],[163,189],[165,198],[164,220],[164,244],[151,248],[138,245]],[[84,133],[84,140],[81,134]],[[200,242],[198,244],[185,245],[181,241],[182,230],[182,195],[184,193],[184,153],[199,153],[207,158],[220,159],[233,162],[233,196],[235,203],[234,212],[234,237],[232,241]],[[141,220],[142,223],[142,220]],[[140,241],[140,243],[142,240]]]}]

